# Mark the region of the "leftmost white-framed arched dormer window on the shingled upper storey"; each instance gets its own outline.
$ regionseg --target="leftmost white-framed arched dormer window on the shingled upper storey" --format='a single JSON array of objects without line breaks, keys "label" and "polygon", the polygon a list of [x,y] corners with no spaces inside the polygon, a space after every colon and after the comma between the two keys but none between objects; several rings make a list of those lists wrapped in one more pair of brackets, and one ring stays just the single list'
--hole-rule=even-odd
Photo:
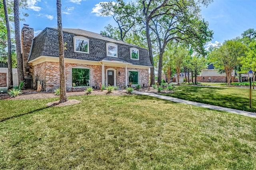
[{"label": "leftmost white-framed arched dormer window on the shingled upper storey", "polygon": [[82,36],[74,36],[74,52],[89,54],[89,39]]}]

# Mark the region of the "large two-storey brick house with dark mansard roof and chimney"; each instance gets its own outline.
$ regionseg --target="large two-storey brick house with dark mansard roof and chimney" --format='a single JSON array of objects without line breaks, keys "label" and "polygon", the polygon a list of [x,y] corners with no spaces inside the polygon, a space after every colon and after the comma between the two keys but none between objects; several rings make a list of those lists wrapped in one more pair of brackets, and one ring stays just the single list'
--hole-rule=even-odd
[{"label": "large two-storey brick house with dark mansard roof and chimney", "polygon": [[[43,91],[60,85],[58,30],[46,27],[33,39],[34,29],[22,28],[24,75],[28,84],[38,81]],[[149,82],[148,50],[82,29],[63,28],[67,91]],[[31,47],[31,48],[30,48]]]}]

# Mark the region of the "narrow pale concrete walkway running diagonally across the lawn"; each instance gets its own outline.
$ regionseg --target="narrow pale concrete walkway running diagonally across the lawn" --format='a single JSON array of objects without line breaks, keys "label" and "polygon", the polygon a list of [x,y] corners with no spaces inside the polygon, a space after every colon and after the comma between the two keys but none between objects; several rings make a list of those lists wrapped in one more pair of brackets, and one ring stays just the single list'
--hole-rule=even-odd
[{"label": "narrow pale concrete walkway running diagonally across the lawn", "polygon": [[169,97],[169,96],[162,96],[160,94],[154,94],[154,93],[148,93],[148,92],[134,91],[134,93],[135,94],[146,95],[146,96],[152,96],[152,97],[160,98],[160,99],[164,99],[164,100],[169,100],[169,101],[176,102],[176,103],[189,104],[189,105],[193,105],[193,106],[199,106],[199,107],[204,107],[204,108],[219,110],[219,111],[227,111],[227,112],[236,113],[236,114],[239,114],[239,115],[244,115],[244,116],[255,117],[256,118],[256,113],[252,113],[252,112],[249,112],[249,111],[242,111],[242,110],[230,109],[230,108],[226,108],[226,107],[213,106],[213,105],[210,105],[210,104],[202,104],[202,103],[197,103],[197,102],[191,102],[191,101],[188,101],[188,100],[172,98],[172,97]]}]

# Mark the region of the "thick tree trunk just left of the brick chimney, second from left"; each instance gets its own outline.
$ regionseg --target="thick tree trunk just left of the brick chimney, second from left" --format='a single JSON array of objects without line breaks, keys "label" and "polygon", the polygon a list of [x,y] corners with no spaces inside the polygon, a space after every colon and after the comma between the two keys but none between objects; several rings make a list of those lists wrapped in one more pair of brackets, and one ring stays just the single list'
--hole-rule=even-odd
[{"label": "thick tree trunk just left of the brick chimney, second from left", "polygon": [[18,84],[20,84],[21,81],[24,81],[19,8],[20,8],[19,0],[14,0],[14,27],[15,27],[15,41],[16,41],[16,53],[17,53]]}]

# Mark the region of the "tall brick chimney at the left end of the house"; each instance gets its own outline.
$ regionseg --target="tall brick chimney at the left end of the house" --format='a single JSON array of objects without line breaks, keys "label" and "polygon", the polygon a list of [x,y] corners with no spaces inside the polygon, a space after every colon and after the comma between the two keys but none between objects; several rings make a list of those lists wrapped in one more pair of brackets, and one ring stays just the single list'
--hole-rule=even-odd
[{"label": "tall brick chimney at the left end of the house", "polygon": [[[31,43],[34,38],[34,29],[28,27],[29,25],[27,24],[23,24],[23,25],[24,26],[21,29],[21,44],[22,44],[24,77],[27,83],[26,88],[32,88],[33,68],[31,63],[28,64],[28,55],[30,53]],[[28,80],[28,79],[31,79],[31,80]]]}]

